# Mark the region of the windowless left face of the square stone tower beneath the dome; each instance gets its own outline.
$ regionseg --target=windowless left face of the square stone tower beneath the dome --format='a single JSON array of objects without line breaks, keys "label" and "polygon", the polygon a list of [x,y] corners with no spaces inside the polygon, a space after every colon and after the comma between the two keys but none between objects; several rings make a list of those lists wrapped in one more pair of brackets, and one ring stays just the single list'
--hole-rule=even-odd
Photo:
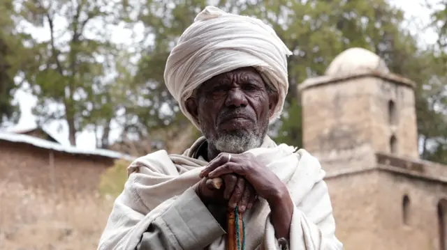
[{"label": "windowless left face of the square stone tower beneath the dome", "polygon": [[350,150],[371,141],[371,79],[316,86],[302,92],[304,148],[310,153]]}]

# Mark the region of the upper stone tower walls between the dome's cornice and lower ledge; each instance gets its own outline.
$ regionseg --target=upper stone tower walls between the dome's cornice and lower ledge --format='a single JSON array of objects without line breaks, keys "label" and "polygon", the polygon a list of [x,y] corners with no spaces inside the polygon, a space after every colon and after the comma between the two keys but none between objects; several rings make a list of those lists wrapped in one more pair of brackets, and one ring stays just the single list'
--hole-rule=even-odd
[{"label": "upper stone tower walls between the dome's cornice and lower ledge", "polygon": [[[397,125],[388,122],[388,101],[395,102]],[[370,145],[390,152],[397,137],[397,154],[418,157],[413,90],[379,77],[357,77],[321,84],[302,91],[304,148],[310,153],[352,150]]]}]

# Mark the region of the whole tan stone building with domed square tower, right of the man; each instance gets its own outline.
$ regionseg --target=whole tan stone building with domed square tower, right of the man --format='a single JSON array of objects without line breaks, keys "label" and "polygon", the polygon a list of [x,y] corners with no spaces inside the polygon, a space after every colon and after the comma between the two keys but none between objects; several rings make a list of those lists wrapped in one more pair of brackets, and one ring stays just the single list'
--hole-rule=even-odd
[{"label": "whole tan stone building with domed square tower, right of the man", "polygon": [[418,157],[413,87],[360,48],[300,84],[304,148],[347,250],[447,250],[447,166]]}]

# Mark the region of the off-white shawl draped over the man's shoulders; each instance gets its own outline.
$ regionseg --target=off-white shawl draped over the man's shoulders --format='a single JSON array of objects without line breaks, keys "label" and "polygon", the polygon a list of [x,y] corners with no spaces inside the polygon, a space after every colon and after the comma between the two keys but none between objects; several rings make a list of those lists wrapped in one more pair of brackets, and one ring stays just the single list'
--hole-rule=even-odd
[{"label": "off-white shawl draped over the man's shoulders", "polygon": [[[140,157],[129,166],[129,180],[115,201],[99,242],[99,250],[135,249],[143,234],[154,224],[168,224],[164,234],[154,238],[166,242],[167,247],[159,249],[226,249],[224,232],[219,233],[213,227],[207,228],[205,224],[209,217],[207,209],[199,211],[202,214],[197,218],[187,209],[182,211],[184,208],[172,210],[178,205],[179,199],[189,192],[190,187],[198,182],[198,173],[207,164],[193,157],[198,145],[203,141],[203,138],[198,139],[183,155],[168,155],[166,151],[161,150]],[[295,148],[291,146],[277,146],[268,137],[261,148],[249,150],[247,153],[254,154],[288,187],[295,205],[290,249],[342,249],[342,244],[335,237],[335,220],[328,189],[323,181],[325,172],[318,160],[305,150],[295,152]],[[175,224],[169,224],[172,222],[166,219],[170,216],[169,213],[187,213],[187,217],[177,220],[179,226],[184,224],[185,220],[188,224],[197,224],[191,226],[193,228],[186,228],[188,230],[181,230]],[[269,214],[269,205],[262,198],[251,210],[244,213],[246,249],[279,249]],[[203,234],[203,231],[212,231],[206,233],[213,236],[196,237]]]}]

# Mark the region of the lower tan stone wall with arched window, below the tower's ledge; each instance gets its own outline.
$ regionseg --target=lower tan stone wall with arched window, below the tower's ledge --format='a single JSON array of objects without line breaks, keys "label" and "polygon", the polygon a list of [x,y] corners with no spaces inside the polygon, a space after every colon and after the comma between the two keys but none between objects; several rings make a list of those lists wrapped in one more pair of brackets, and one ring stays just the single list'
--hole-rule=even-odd
[{"label": "lower tan stone wall with arched window, below the tower's ledge", "polygon": [[[337,175],[328,184],[344,249],[441,250],[437,204],[447,184],[383,169]],[[404,222],[403,198],[409,197]]]}]

